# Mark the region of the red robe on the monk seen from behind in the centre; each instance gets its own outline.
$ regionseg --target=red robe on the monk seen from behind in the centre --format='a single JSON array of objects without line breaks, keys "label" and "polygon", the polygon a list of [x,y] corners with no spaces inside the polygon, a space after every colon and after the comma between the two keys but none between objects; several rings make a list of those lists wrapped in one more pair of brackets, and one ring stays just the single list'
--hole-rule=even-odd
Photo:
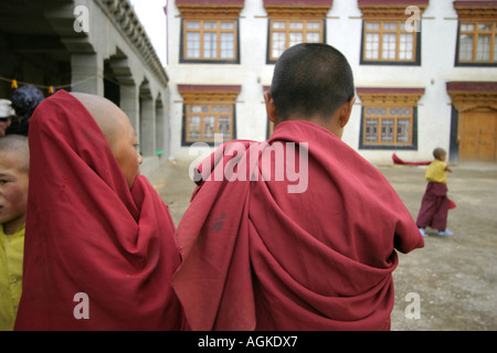
[{"label": "red robe on the monk seen from behind in the centre", "polygon": [[[373,165],[325,128],[285,121],[267,142],[223,145],[199,170],[172,280],[193,330],[390,329],[394,248],[424,243]],[[245,170],[252,181],[233,178]]]}]

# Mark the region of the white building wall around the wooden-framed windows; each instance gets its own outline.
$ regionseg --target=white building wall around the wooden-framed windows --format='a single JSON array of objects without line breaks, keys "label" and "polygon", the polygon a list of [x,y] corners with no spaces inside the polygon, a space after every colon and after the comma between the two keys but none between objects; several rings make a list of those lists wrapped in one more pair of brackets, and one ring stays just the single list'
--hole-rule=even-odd
[{"label": "white building wall around the wooden-framed windows", "polygon": [[[431,160],[435,147],[450,150],[451,99],[448,81],[497,81],[496,67],[455,67],[457,13],[453,1],[430,1],[422,17],[421,66],[360,65],[361,12],[356,0],[334,0],[326,20],[327,43],[350,62],[356,87],[424,88],[417,107],[417,150],[359,149],[361,106],[358,97],[343,141],[372,163],[390,163],[396,152],[406,160]],[[263,0],[245,0],[240,17],[241,63],[179,64],[181,19],[175,1],[168,1],[167,73],[171,90],[171,156],[192,159],[198,151],[181,147],[182,97],[179,84],[241,85],[236,103],[236,138],[265,140],[267,119],[263,87],[271,85],[274,65],[266,64],[267,13]],[[406,20],[410,15],[406,15]],[[207,154],[212,149],[203,150]]]}]

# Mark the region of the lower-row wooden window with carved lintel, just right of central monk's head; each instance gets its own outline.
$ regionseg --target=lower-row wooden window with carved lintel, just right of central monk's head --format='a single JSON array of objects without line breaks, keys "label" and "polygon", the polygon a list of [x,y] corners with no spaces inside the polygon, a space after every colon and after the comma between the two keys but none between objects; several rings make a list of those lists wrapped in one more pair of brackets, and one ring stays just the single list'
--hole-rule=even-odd
[{"label": "lower-row wooden window with carved lintel, just right of central monk's head", "polygon": [[[357,93],[362,101],[359,149],[417,149],[417,100],[424,88],[357,88]],[[376,141],[367,139],[368,119],[378,119]],[[388,119],[393,122],[391,141],[382,140],[382,121]],[[398,141],[401,119],[409,120],[408,141]]]}]

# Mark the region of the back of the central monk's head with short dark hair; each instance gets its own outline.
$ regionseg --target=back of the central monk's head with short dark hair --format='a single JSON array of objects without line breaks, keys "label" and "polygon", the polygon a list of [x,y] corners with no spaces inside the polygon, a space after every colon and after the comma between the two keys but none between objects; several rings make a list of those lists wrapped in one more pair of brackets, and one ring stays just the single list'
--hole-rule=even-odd
[{"label": "back of the central monk's head with short dark hair", "polygon": [[271,95],[283,120],[295,115],[329,118],[355,97],[352,69],[330,45],[297,44],[276,63]]}]

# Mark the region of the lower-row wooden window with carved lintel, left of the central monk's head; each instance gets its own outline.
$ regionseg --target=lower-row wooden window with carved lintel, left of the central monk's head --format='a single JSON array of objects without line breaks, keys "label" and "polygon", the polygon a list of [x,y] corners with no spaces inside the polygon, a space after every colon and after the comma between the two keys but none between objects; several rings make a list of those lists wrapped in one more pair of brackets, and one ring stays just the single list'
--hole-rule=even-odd
[{"label": "lower-row wooden window with carved lintel, left of the central monk's head", "polygon": [[[210,85],[178,85],[178,90],[183,97],[181,146],[191,146],[195,142],[204,142],[214,146],[215,133],[220,132],[220,118],[230,118],[230,136],[223,137],[223,142],[236,138],[236,97],[241,86],[210,86]],[[214,111],[213,107],[226,107],[228,111]],[[192,107],[205,107],[202,111],[192,111]],[[199,138],[191,138],[190,118],[200,118]],[[214,118],[213,136],[204,138],[205,119]]]}]

